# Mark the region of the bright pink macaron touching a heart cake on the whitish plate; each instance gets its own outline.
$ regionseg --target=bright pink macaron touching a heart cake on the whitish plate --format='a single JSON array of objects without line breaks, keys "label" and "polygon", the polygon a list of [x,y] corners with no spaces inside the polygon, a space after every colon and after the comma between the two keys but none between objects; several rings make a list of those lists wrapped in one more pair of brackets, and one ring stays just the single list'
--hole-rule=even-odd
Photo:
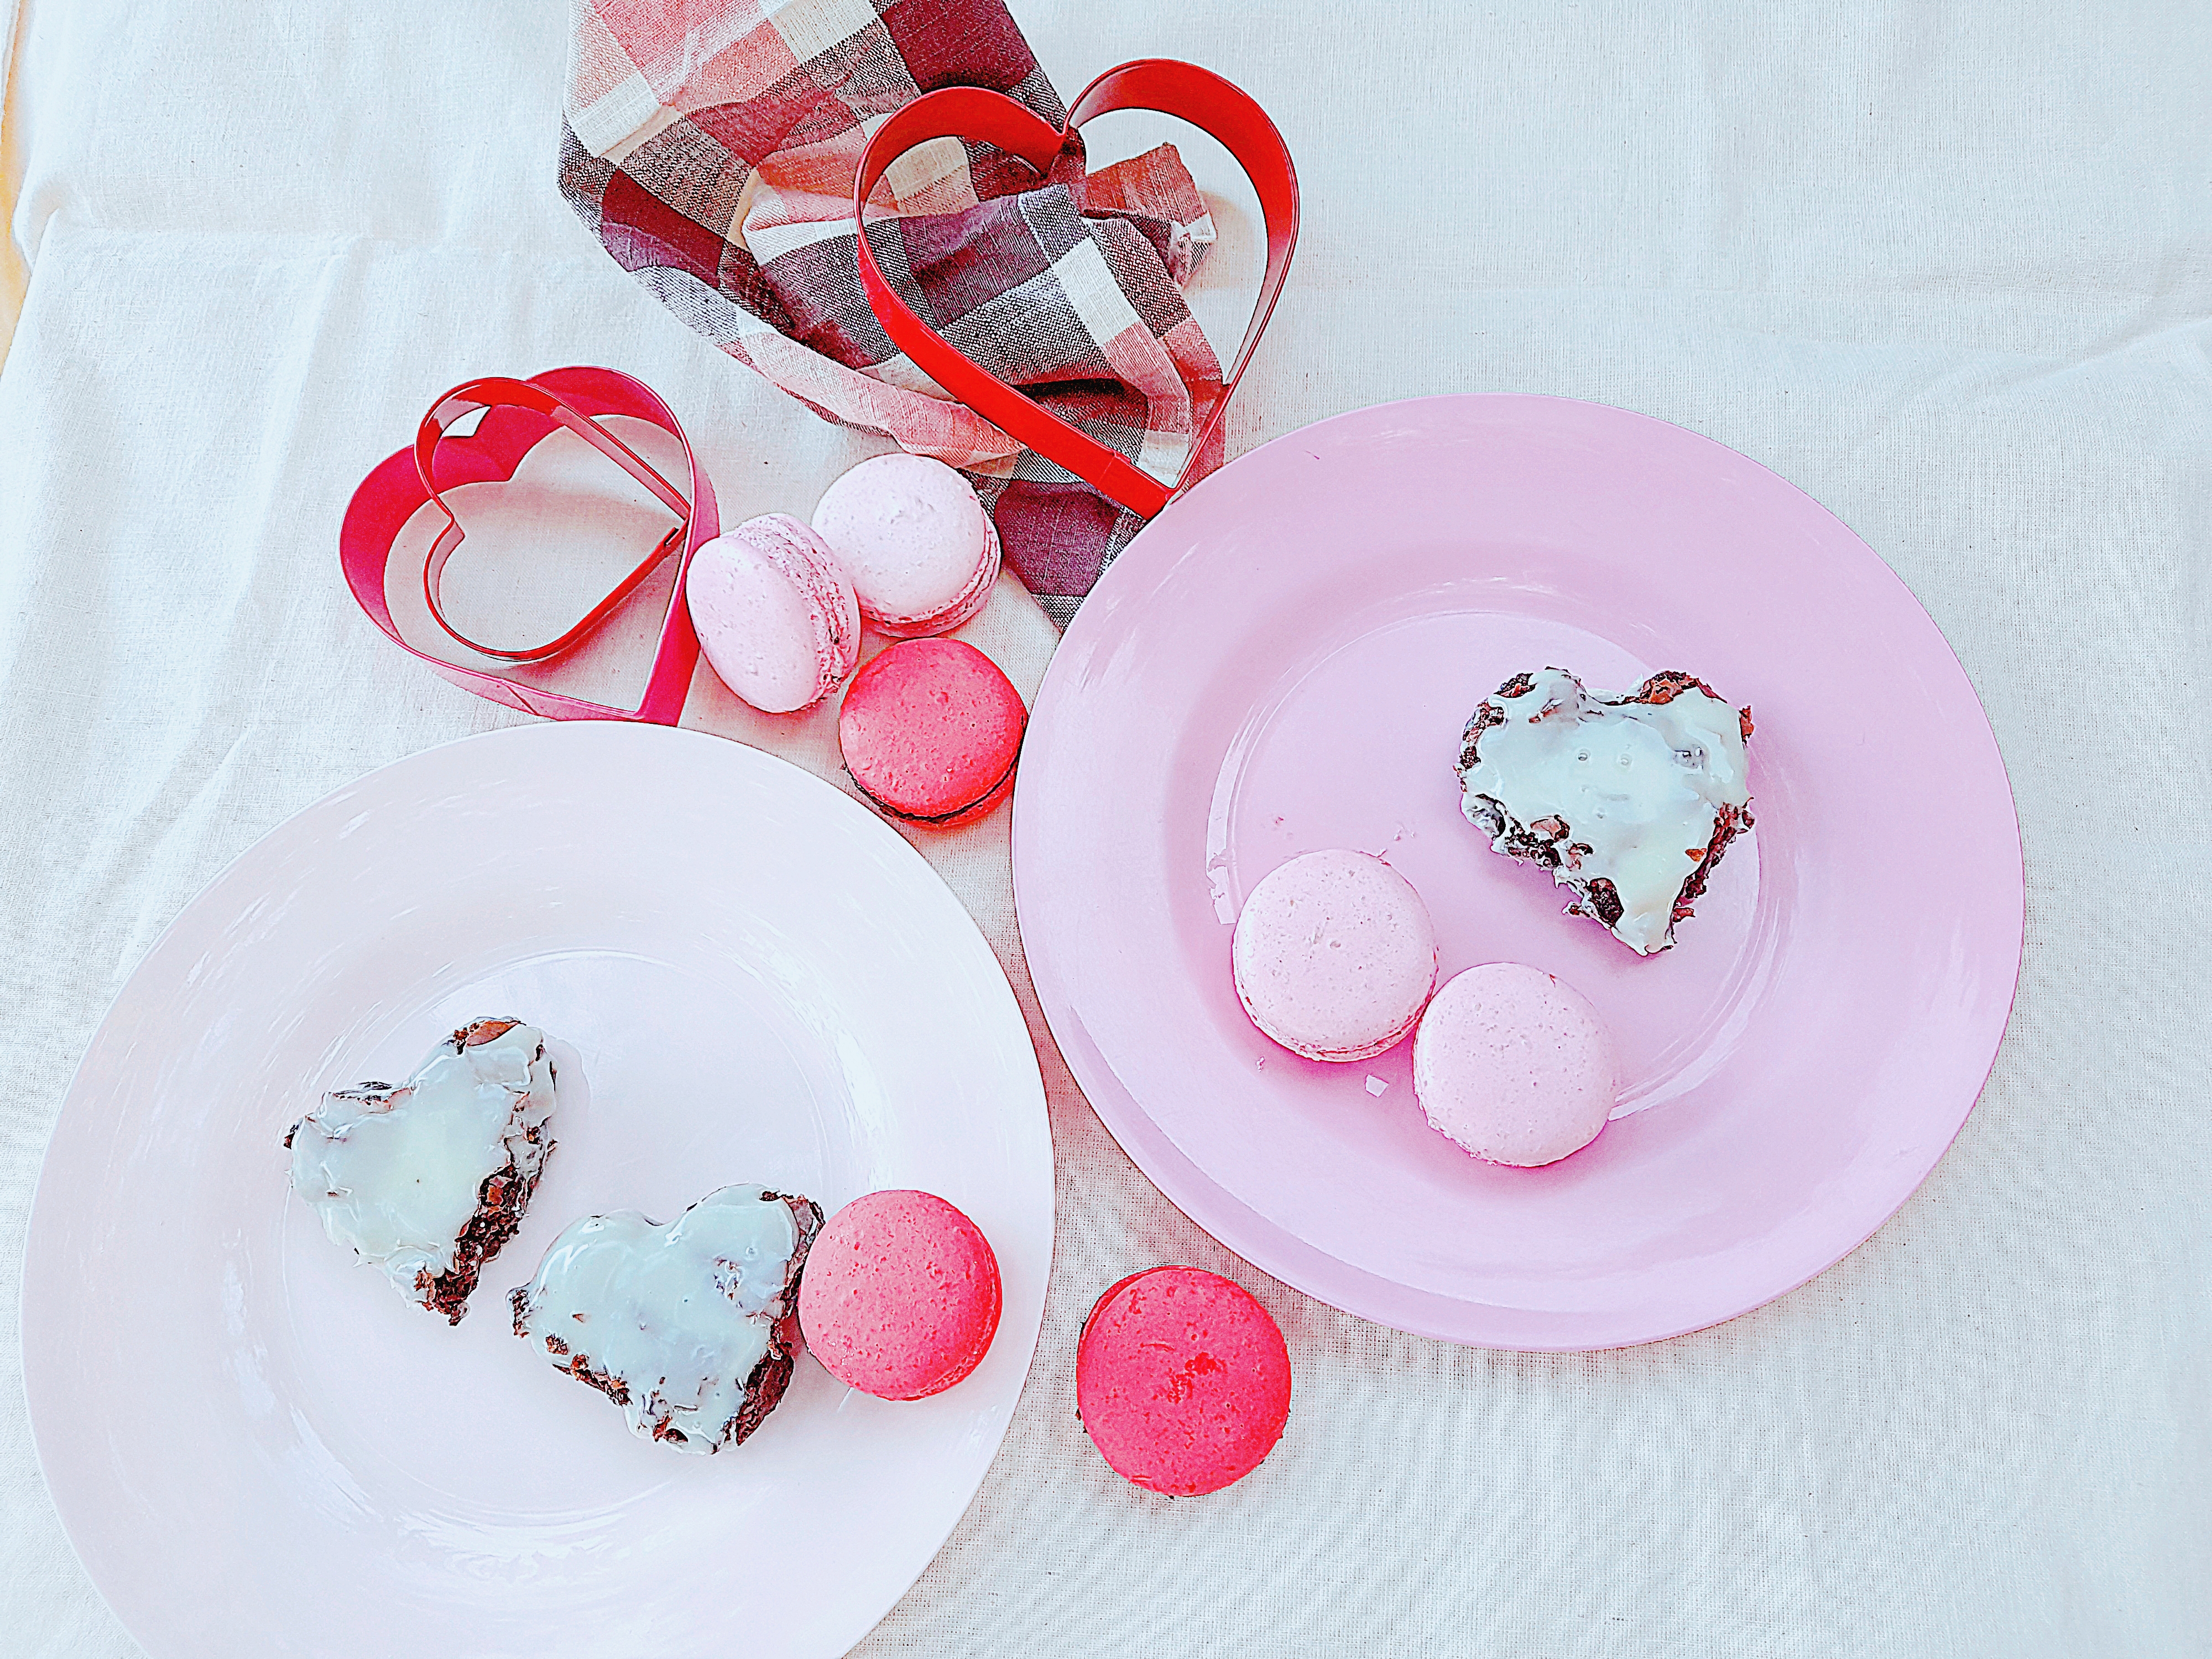
[{"label": "bright pink macaron touching a heart cake on the whitish plate", "polygon": [[998,1334],[998,1256],[933,1192],[869,1192],[816,1234],[799,1329],[838,1383],[922,1400],[964,1378]]}]

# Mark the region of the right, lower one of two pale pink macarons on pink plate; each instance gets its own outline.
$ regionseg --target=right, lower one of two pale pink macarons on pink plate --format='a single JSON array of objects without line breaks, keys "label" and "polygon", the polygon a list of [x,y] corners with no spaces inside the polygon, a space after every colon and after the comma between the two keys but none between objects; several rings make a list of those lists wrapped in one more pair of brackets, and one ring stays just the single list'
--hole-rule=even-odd
[{"label": "right, lower one of two pale pink macarons on pink plate", "polygon": [[1431,1128],[1491,1164],[1579,1152],[1619,1091],[1613,1033],[1590,1000],[1542,969],[1453,973],[1413,1033],[1413,1097]]}]

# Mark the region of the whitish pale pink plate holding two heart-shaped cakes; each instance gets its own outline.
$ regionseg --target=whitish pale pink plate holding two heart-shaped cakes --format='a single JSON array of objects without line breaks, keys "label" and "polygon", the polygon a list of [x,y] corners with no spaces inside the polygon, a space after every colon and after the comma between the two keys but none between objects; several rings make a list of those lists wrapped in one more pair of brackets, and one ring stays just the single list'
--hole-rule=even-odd
[{"label": "whitish pale pink plate holding two heart-shaped cakes", "polygon": [[[447,1327],[323,1237],[279,1139],[478,1013],[542,1022],[584,1086]],[[504,1292],[566,1221],[730,1181],[958,1203],[1004,1274],[982,1367],[891,1405],[801,1358],[759,1433],[686,1458],[513,1338]],[[526,726],[307,807],[146,956],[40,1175],[24,1376],[155,1659],[836,1655],[975,1493],[1051,1250],[1035,1053],[929,865],[757,750]]]}]

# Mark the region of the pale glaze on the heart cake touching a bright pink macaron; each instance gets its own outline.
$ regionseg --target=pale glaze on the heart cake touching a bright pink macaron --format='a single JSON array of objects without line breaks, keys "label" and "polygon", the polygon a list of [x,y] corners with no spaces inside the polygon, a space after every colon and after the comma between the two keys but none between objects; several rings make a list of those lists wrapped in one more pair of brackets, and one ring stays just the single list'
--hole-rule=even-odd
[{"label": "pale glaze on the heart cake touching a bright pink macaron", "polygon": [[584,1217],[513,1292],[515,1336],[562,1371],[593,1374],[630,1433],[719,1451],[776,1325],[792,1318],[794,1259],[810,1237],[759,1186],[708,1192],[668,1223],[637,1210]]}]

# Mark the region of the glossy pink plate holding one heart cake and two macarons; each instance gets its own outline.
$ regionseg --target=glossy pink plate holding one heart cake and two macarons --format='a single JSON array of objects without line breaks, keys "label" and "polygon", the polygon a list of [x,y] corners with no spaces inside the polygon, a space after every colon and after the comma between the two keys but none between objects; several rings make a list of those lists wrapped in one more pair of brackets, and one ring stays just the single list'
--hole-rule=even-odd
[{"label": "glossy pink plate holding one heart cake and two macarons", "polygon": [[[1657,958],[1460,816],[1467,717],[1546,664],[1683,668],[1759,723],[1759,830]],[[1259,1035],[1230,922],[1314,847],[1389,858],[1447,975],[1588,993],[1626,1066],[1595,1144],[1480,1164],[1422,1121],[1411,1044]],[[1144,1172],[1279,1279],[1486,1347],[1646,1343],[1838,1261],[1958,1135],[2020,969],[2004,765],[1913,595],[1765,467],[1564,398],[1360,409],[1172,502],[1053,659],[1013,863],[1053,1035]]]}]

